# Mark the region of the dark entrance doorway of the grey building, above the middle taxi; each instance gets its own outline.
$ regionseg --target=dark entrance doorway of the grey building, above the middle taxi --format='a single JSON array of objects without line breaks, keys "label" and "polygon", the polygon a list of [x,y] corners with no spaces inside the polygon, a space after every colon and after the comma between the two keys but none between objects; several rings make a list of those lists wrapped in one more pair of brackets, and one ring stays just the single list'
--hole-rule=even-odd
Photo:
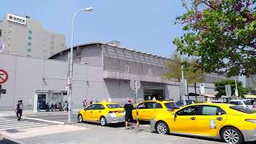
[{"label": "dark entrance doorway of the grey building, above the middle taxi", "polygon": [[152,90],[144,89],[144,100],[164,100],[165,99],[165,90]]}]

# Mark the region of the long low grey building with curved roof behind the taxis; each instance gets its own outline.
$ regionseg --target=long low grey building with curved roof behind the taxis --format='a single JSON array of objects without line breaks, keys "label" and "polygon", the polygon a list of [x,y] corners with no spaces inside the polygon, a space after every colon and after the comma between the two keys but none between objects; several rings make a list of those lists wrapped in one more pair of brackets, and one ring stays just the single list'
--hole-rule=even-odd
[{"label": "long low grey building with curved roof behind the taxis", "polygon": [[[54,54],[51,59],[0,54],[0,70],[9,74],[8,81],[2,84],[6,94],[1,95],[0,110],[12,110],[20,99],[26,110],[34,111],[43,110],[46,103],[64,102],[69,51]],[[134,98],[131,78],[138,78],[142,83],[139,101],[154,97],[179,100],[179,82],[162,78],[167,58],[122,48],[115,43],[93,42],[75,46],[74,60],[74,109],[82,108],[84,99],[125,103],[127,98]],[[220,79],[214,77],[213,74],[207,76],[206,93],[214,92],[212,82]],[[194,92],[194,88],[189,86],[189,91]]]}]

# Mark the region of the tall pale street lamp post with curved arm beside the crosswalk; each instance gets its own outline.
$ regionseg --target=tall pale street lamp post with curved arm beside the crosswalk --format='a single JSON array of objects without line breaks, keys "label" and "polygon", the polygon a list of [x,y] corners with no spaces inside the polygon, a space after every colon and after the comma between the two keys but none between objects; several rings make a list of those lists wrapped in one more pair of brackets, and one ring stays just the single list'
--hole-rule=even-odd
[{"label": "tall pale street lamp post with curved arm beside the crosswalk", "polygon": [[92,7],[88,7],[86,9],[78,10],[76,13],[74,13],[72,18],[72,28],[71,28],[71,47],[70,47],[70,71],[69,71],[69,77],[68,77],[68,95],[69,95],[69,110],[68,110],[68,120],[67,122],[71,122],[71,96],[72,96],[72,77],[73,77],[73,46],[74,46],[74,18],[75,16],[84,11],[84,12],[90,12],[94,10]]}]

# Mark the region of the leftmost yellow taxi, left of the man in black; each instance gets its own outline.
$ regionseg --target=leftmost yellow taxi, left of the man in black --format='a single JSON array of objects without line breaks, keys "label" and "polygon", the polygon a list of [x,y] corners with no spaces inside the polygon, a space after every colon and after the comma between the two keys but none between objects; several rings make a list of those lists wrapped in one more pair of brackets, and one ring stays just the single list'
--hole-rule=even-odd
[{"label": "leftmost yellow taxi, left of the man in black", "polygon": [[98,122],[102,126],[125,122],[125,110],[118,103],[97,102],[78,112],[78,122]]}]

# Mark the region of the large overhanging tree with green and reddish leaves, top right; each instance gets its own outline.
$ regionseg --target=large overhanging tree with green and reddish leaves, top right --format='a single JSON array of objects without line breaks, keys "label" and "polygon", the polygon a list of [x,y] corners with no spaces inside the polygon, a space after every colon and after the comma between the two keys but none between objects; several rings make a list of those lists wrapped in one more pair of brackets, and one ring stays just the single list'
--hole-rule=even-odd
[{"label": "large overhanging tree with green and reddish leaves, top right", "polygon": [[186,1],[186,13],[175,22],[186,32],[174,39],[177,50],[200,58],[209,73],[256,74],[256,1]]}]

